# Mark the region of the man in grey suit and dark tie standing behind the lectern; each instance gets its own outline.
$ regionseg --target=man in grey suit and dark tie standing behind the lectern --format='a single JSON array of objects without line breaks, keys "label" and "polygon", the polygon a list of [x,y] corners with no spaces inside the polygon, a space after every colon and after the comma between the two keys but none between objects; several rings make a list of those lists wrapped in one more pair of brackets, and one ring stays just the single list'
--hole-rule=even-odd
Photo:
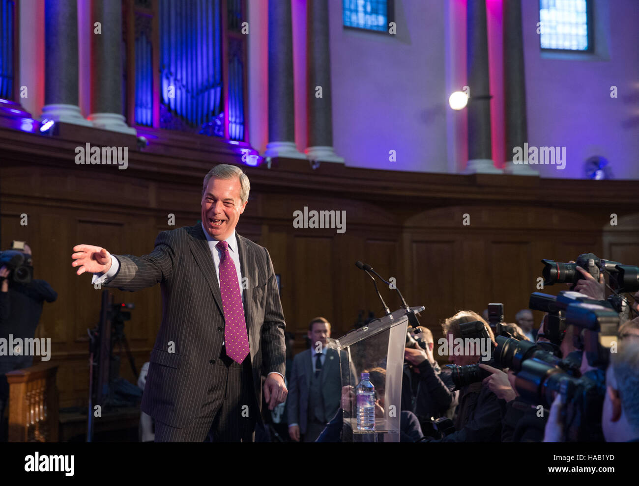
[{"label": "man in grey suit and dark tie standing behind the lectern", "polygon": [[316,317],[309,323],[311,349],[298,353],[288,394],[288,433],[294,441],[314,442],[340,407],[342,381],[339,354],[327,348],[330,323]]}]

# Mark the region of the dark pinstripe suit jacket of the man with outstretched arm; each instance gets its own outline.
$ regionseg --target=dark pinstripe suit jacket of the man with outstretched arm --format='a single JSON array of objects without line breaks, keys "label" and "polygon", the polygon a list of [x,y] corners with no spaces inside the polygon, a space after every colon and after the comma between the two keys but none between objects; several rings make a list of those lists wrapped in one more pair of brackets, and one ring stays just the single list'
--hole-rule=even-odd
[{"label": "dark pinstripe suit jacket of the man with outstretched arm", "polygon": [[[255,391],[261,408],[261,376],[284,374],[284,315],[273,264],[265,247],[237,236],[242,277],[247,277],[244,316]],[[206,390],[222,379],[219,360],[224,311],[213,256],[202,226],[161,232],[153,253],[114,255],[116,275],[105,286],[135,291],[160,283],[162,324],[151,351],[142,411],[173,427],[186,427],[201,410]],[[169,353],[169,342],[174,352]],[[249,404],[250,405],[250,404]],[[261,416],[257,420],[261,422]]]}]

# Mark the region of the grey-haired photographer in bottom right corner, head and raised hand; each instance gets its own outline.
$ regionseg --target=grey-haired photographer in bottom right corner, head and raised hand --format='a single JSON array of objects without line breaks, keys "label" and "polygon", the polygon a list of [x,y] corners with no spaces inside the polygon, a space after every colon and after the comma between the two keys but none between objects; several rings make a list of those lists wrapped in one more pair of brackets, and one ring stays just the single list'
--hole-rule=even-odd
[{"label": "grey-haired photographer in bottom right corner, head and raised hand", "polygon": [[[601,428],[606,442],[639,442],[639,342],[622,341],[606,369]],[[550,408],[544,442],[563,442],[561,396]]]}]

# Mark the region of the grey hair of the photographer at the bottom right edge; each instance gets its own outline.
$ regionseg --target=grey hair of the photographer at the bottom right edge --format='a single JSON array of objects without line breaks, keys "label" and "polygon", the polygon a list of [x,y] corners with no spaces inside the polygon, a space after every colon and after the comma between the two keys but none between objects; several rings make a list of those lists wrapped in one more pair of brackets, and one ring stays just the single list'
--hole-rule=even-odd
[{"label": "grey hair of the photographer at the bottom right edge", "polygon": [[628,423],[639,432],[639,343],[620,344],[612,353],[612,369]]}]

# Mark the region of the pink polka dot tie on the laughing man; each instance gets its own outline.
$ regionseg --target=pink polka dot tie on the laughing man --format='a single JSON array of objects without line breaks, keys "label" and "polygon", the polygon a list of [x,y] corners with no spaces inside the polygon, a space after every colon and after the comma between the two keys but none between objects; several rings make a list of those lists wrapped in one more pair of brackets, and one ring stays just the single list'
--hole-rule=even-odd
[{"label": "pink polka dot tie on the laughing man", "polygon": [[242,364],[244,358],[249,354],[250,348],[238,274],[229,253],[229,244],[226,241],[220,241],[215,246],[222,250],[220,255],[220,293],[222,293],[222,307],[224,308],[226,354],[233,361]]}]

